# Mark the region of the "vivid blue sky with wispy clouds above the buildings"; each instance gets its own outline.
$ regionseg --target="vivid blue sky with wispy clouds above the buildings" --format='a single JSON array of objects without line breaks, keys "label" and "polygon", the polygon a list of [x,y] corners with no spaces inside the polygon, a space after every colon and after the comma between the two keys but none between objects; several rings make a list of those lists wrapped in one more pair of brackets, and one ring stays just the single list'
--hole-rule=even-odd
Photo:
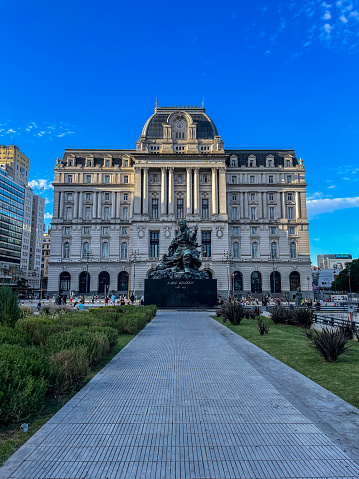
[{"label": "vivid blue sky with wispy clouds above the buildings", "polygon": [[2,0],[0,17],[0,143],[29,156],[48,217],[64,148],[134,148],[156,97],[204,97],[225,147],[303,158],[313,264],[359,256],[359,0]]}]

